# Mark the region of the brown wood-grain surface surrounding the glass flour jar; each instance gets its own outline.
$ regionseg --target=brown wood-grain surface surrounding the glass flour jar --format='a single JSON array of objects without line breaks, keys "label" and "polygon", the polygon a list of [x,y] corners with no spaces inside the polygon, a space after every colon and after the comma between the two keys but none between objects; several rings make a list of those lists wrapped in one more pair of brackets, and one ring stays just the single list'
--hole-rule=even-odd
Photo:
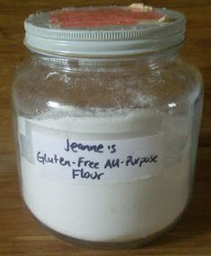
[{"label": "brown wood-grain surface surrounding the glass flour jar", "polygon": [[10,84],[15,67],[28,54],[22,22],[38,10],[68,5],[129,5],[131,1],[0,0],[0,255],[211,255],[211,1],[152,0],[187,15],[182,55],[201,70],[205,104],[200,132],[196,183],[180,224],[147,246],[127,251],[96,251],[62,242],[36,223],[22,204],[13,148]]}]

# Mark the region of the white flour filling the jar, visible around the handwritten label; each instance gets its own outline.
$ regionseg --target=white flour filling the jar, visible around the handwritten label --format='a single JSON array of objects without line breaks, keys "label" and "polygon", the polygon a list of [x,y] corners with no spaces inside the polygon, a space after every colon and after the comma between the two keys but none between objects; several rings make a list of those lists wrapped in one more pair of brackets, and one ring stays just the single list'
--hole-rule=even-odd
[{"label": "white flour filling the jar, visible around the handwritten label", "polygon": [[[77,136],[88,140],[96,136],[101,140],[107,136],[123,140],[164,134],[162,174],[134,182],[101,186],[68,184],[40,176],[37,167],[22,157],[25,203],[40,222],[58,233],[92,242],[132,241],[162,231],[187,205],[189,121],[186,116],[128,109],[85,113],[76,108],[62,111],[58,108],[36,119],[19,116],[19,133],[23,135],[29,133],[26,121],[77,132]],[[31,154],[27,143],[22,143]]]}]

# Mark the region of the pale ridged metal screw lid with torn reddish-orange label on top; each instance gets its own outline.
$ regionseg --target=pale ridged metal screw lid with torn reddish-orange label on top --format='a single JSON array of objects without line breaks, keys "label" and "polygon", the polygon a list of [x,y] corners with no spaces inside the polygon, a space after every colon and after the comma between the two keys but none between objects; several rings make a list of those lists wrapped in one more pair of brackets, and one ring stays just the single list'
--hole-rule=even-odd
[{"label": "pale ridged metal screw lid with torn reddish-orange label on top", "polygon": [[185,40],[183,14],[141,4],[31,14],[25,45],[48,55],[109,57],[165,50]]}]

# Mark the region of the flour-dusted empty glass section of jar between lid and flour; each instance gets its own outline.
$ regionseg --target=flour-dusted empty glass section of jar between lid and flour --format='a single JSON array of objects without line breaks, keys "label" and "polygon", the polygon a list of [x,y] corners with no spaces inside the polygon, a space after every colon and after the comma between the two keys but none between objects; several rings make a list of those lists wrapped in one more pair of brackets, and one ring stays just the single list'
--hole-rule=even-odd
[{"label": "flour-dusted empty glass section of jar between lid and flour", "polygon": [[[78,63],[76,63],[76,66]],[[55,105],[100,108],[187,108],[202,92],[200,72],[183,59],[160,67],[71,69],[71,65],[30,57],[22,62],[13,83],[13,97],[22,112],[38,114]]]}]

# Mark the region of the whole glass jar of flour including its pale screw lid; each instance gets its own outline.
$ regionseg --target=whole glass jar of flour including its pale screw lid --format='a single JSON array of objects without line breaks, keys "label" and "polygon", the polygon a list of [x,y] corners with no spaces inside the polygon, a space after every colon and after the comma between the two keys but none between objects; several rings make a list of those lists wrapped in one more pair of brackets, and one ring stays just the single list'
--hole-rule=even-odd
[{"label": "whole glass jar of flour including its pale screw lid", "polygon": [[[125,24],[122,12],[138,21]],[[86,22],[73,25],[75,13]],[[62,239],[100,248],[169,230],[189,203],[202,108],[198,69],[179,58],[184,16],[70,8],[31,15],[25,29],[31,56],[14,79],[13,109],[31,214]]]}]

